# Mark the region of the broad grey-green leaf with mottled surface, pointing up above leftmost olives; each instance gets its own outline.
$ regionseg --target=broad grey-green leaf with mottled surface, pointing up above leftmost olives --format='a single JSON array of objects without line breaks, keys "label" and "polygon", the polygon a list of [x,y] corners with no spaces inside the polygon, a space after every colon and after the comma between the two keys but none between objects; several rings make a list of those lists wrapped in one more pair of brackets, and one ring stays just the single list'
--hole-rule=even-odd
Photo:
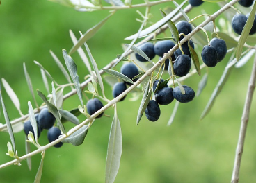
[{"label": "broad grey-green leaf with mottled surface, pointing up above leftmost olives", "polygon": [[74,82],[74,87],[77,90],[77,95],[79,97],[81,105],[83,106],[83,95],[82,95],[82,91],[81,91],[81,87],[80,87],[79,76],[77,75],[77,64],[70,57],[70,55],[67,55],[67,51],[65,51],[63,49],[62,53],[63,53],[63,58],[65,60],[67,69],[70,72],[70,76]]}]

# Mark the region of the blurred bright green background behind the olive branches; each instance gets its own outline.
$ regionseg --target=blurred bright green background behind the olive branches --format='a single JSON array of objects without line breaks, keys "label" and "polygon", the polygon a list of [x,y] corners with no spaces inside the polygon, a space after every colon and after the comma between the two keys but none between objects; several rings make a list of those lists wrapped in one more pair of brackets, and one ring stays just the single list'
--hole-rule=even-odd
[{"label": "blurred bright green background behind the olive branches", "polygon": [[[158,21],[161,18],[159,8],[163,9],[167,6],[174,7],[170,2],[152,8],[153,16],[150,21]],[[144,8],[138,10],[145,11]],[[192,19],[200,12],[211,14],[216,10],[218,10],[216,4],[204,3],[200,8],[194,8],[189,13],[189,17]],[[51,58],[49,50],[54,51],[64,64],[61,50],[69,51],[72,47],[69,30],[71,29],[78,37],[79,30],[85,33],[108,14],[107,11],[77,12],[50,1],[1,1],[1,78],[6,79],[19,97],[24,114],[28,111],[27,102],[33,103],[33,99],[26,85],[23,62],[26,63],[34,90],[40,89],[46,94],[40,69],[33,60],[40,62],[58,83],[64,84],[65,78]],[[118,11],[97,35],[88,41],[99,68],[122,53],[121,44],[129,43],[124,38],[136,33],[140,26],[140,23],[135,21],[136,18],[140,18],[136,9]],[[166,33],[170,35],[168,30]],[[163,36],[159,35],[159,37]],[[227,58],[229,56],[230,54]],[[83,80],[88,71],[77,53],[74,53],[72,58],[77,63],[80,80]],[[156,123],[147,121],[143,116],[138,126],[136,114],[140,101],[129,101],[131,94],[128,94],[125,101],[118,103],[123,150],[120,170],[115,182],[230,182],[253,60],[241,69],[232,70],[210,114],[202,121],[199,120],[227,64],[227,58],[218,63],[217,67],[209,69],[209,80],[205,90],[191,103],[179,105],[175,121],[169,127],[166,127],[166,124],[174,103],[161,106],[161,117]],[[157,58],[154,61],[157,61]],[[120,65],[117,68],[120,68]],[[199,81],[200,77],[195,75],[184,84],[189,85],[196,92]],[[106,83],[105,87],[106,96],[112,98],[111,88]],[[19,114],[4,89],[2,93],[10,119],[17,118]],[[42,103],[38,96],[36,99],[38,103]],[[86,102],[86,98],[84,101]],[[78,105],[78,97],[72,96],[65,101],[63,107],[65,110],[71,110]],[[34,103],[33,107],[35,107]],[[254,98],[246,134],[240,182],[256,182],[255,107]],[[62,148],[47,150],[41,182],[104,182],[106,150],[113,110],[106,110],[105,113],[111,117],[97,119],[83,145],[74,147],[71,144],[64,144]],[[3,112],[0,119],[1,123],[5,123]],[[80,116],[79,119],[83,121],[85,117]],[[67,130],[72,127],[72,124],[65,123]],[[0,139],[0,164],[3,164],[12,160],[5,155],[6,144],[10,141],[8,133],[1,132]],[[19,156],[22,156],[25,154],[24,132],[15,134],[15,139]],[[42,132],[39,141],[42,145],[47,143],[46,130]],[[32,150],[35,148],[32,147]],[[32,171],[29,171],[26,161],[21,163],[22,166],[8,166],[1,169],[0,182],[33,182],[40,164],[40,155],[32,157]]]}]

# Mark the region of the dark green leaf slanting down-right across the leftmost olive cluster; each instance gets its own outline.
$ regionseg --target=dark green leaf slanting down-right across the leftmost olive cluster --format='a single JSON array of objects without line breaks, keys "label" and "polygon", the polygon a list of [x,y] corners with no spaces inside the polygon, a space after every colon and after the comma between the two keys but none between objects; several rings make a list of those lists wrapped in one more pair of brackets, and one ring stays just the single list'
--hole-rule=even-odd
[{"label": "dark green leaf slanting down-right across the leftmost olive cluster", "polygon": [[38,95],[42,98],[42,101],[45,102],[45,104],[48,107],[48,110],[51,112],[51,114],[54,115],[56,121],[58,122],[58,126],[61,128],[62,132],[65,132],[65,128],[63,127],[63,124],[61,123],[61,116],[60,113],[58,112],[57,107],[55,107],[53,104],[49,103],[49,101],[47,100],[47,98],[45,97],[44,94],[42,94],[42,92],[40,92],[40,90],[38,90]]}]

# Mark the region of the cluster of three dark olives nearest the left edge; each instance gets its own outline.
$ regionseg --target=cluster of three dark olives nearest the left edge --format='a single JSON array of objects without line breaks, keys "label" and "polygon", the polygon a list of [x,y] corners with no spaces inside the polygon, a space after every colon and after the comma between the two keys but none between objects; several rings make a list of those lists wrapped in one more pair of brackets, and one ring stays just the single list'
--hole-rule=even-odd
[{"label": "cluster of three dark olives nearest the left edge", "polygon": [[[48,111],[48,108],[43,108],[39,114],[35,114],[35,120],[38,126],[38,138],[40,137],[40,134],[42,130],[48,130],[47,131],[47,138],[49,142],[55,141],[58,139],[58,137],[61,135],[61,130],[57,127],[54,127],[55,123],[55,117],[51,112]],[[25,121],[24,122],[24,132],[26,135],[29,134],[29,132],[32,132],[35,136],[33,127],[31,125],[31,121]],[[60,148],[63,145],[63,142],[56,143],[54,147]]]}]

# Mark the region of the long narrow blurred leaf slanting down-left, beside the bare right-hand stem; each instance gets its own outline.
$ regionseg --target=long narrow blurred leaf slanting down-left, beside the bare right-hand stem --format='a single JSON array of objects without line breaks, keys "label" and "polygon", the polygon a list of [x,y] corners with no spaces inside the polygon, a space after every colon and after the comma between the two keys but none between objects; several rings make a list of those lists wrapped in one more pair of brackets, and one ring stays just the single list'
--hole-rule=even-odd
[{"label": "long narrow blurred leaf slanting down-left, beside the bare right-hand stem", "polygon": [[[230,60],[230,62],[232,61]],[[211,110],[211,107],[214,105],[214,101],[216,100],[218,94],[221,92],[221,89],[223,89],[228,76],[230,76],[230,71],[232,68],[233,67],[228,67],[228,68],[226,67],[225,70],[223,71],[221,79],[218,81],[218,84],[215,87],[214,92],[212,92],[211,97],[209,98],[209,101],[205,107],[205,110],[202,112],[200,116],[200,119],[203,119]]]}]

